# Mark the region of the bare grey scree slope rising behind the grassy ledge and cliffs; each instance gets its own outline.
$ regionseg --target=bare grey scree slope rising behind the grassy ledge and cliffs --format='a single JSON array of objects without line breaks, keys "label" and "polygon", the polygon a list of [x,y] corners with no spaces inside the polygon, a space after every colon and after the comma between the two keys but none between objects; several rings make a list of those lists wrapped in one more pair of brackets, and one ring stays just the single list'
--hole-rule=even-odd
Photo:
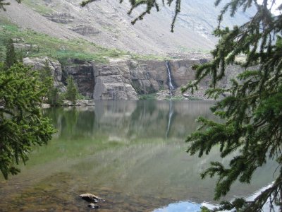
[{"label": "bare grey scree slope rising behind the grassy ledge and cliffs", "polygon": [[[217,14],[211,0],[183,1],[175,33],[170,33],[173,6],[163,7],[144,20],[131,25],[139,8],[127,15],[127,1],[103,0],[81,8],[75,0],[24,0],[11,2],[1,19],[8,19],[20,28],[47,34],[62,40],[86,40],[100,47],[117,48],[136,54],[161,56],[207,53],[216,43],[212,30],[217,25]],[[222,5],[221,5],[222,6]],[[241,24],[253,11],[238,13],[235,18],[226,16],[223,25]]]}]

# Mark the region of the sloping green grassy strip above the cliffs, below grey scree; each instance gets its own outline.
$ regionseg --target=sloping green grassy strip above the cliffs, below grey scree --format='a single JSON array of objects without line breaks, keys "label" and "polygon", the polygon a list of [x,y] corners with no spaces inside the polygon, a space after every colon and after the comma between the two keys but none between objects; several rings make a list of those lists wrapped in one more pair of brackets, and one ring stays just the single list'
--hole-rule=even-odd
[{"label": "sloping green grassy strip above the cliffs, below grey scree", "polygon": [[[123,57],[127,54],[118,49],[106,49],[93,42],[85,40],[62,40],[46,34],[36,33],[32,30],[21,30],[16,25],[0,20],[0,52],[3,55],[8,38],[23,40],[23,44],[32,45],[33,48],[26,52],[16,49],[23,57],[48,56],[59,59],[62,63],[67,59],[82,59],[85,61],[97,61],[106,63],[107,58]],[[2,56],[3,60],[3,56]]]}]

